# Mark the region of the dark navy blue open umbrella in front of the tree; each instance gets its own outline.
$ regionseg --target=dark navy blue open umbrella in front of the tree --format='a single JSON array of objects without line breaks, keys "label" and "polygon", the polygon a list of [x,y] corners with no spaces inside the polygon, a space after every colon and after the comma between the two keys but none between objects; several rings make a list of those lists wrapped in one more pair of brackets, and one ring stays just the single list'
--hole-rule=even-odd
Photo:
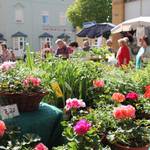
[{"label": "dark navy blue open umbrella in front of the tree", "polygon": [[115,25],[111,23],[97,23],[91,27],[84,28],[79,33],[77,33],[77,36],[96,38],[96,37],[100,37],[106,32],[109,32],[114,27]]}]

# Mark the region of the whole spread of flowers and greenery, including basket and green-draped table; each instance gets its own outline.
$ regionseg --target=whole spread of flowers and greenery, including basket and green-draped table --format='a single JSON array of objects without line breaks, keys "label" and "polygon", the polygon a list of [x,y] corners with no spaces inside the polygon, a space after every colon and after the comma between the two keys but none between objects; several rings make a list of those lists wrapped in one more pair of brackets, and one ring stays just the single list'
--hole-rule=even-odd
[{"label": "whole spread of flowers and greenery, including basket and green-draped table", "polygon": [[135,71],[132,64],[108,65],[105,58],[49,55],[43,61],[29,46],[27,52],[25,63],[0,67],[1,104],[17,104],[20,112],[13,117],[5,109],[12,116],[0,121],[1,149],[148,149],[149,64]]}]

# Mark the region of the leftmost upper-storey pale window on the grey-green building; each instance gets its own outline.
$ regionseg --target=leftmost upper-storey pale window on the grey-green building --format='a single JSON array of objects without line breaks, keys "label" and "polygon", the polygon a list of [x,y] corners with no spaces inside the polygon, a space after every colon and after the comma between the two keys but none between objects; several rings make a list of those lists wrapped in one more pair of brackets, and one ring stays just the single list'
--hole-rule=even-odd
[{"label": "leftmost upper-storey pale window on the grey-green building", "polygon": [[15,21],[16,23],[24,22],[24,8],[21,4],[15,6]]}]

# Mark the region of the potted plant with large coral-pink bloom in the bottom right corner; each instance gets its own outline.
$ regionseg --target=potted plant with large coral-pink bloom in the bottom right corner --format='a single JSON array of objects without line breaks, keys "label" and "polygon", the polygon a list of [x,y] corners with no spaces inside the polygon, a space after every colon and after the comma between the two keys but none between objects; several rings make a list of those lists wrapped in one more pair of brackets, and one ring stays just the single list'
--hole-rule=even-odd
[{"label": "potted plant with large coral-pink bloom in the bottom right corner", "polygon": [[150,121],[135,120],[133,106],[120,106],[114,109],[113,116],[117,127],[108,132],[107,139],[115,149],[148,150],[150,146]]}]

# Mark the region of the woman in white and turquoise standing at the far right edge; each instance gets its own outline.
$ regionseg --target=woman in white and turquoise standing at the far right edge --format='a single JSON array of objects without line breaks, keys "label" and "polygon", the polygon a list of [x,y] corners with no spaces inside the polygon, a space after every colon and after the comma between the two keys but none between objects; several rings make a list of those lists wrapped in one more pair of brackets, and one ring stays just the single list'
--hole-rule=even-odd
[{"label": "woman in white and turquoise standing at the far right edge", "polygon": [[136,69],[140,69],[142,67],[143,56],[148,46],[148,37],[142,37],[139,43],[141,45],[141,48],[139,49],[138,54],[136,55]]}]

